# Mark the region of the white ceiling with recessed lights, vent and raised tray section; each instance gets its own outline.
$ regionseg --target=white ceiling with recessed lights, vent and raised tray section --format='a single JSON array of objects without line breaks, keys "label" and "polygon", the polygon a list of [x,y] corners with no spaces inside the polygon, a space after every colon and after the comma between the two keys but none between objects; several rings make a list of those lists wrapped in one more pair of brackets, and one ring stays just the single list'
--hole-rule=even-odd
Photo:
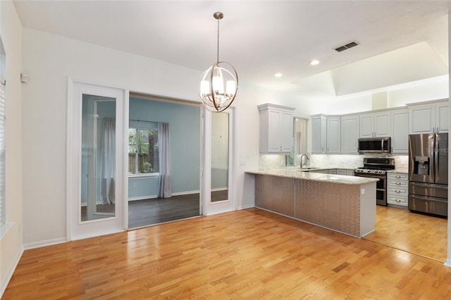
[{"label": "white ceiling with recessed lights, vent and raised tray section", "polygon": [[[451,1],[23,1],[35,28],[200,71],[231,63],[241,82],[340,96],[447,75]],[[334,49],[356,41],[341,53]],[[319,65],[309,65],[312,59]],[[283,73],[276,78],[275,73]]]}]

